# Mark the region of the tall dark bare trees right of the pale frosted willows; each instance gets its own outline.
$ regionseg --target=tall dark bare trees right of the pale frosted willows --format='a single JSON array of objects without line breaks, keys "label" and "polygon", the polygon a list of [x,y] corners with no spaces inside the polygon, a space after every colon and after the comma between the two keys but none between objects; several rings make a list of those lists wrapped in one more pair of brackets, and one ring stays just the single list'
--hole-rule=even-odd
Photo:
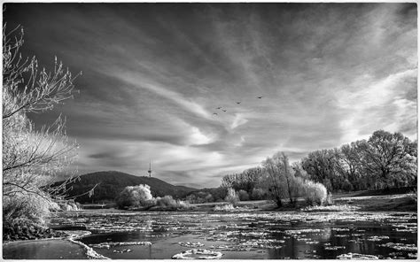
[{"label": "tall dark bare trees right of the pale frosted willows", "polygon": [[299,166],[331,192],[415,186],[417,141],[377,130],[368,140],[312,151]]}]

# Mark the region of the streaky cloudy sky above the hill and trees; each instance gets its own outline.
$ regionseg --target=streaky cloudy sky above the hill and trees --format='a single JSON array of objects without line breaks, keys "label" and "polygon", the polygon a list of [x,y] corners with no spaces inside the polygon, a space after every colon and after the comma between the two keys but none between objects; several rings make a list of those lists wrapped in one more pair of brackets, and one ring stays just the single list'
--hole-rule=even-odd
[{"label": "streaky cloudy sky above the hill and trees", "polygon": [[82,72],[73,100],[31,116],[66,116],[80,174],[151,161],[154,177],[209,188],[276,151],[416,139],[416,4],[5,5],[24,56]]}]

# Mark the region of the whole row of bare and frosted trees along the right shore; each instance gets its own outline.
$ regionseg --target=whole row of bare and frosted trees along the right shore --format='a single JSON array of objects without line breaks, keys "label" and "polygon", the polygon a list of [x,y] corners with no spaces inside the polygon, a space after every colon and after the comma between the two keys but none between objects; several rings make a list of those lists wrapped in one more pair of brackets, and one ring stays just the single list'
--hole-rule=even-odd
[{"label": "whole row of bare and frosted trees along the right shore", "polygon": [[283,152],[277,152],[261,166],[225,175],[222,188],[233,189],[235,196],[227,191],[229,199],[271,198],[282,206],[282,199],[296,204],[298,197],[304,197],[310,204],[323,204],[327,192],[416,186],[416,163],[416,141],[378,130],[367,141],[315,150],[292,165]]}]

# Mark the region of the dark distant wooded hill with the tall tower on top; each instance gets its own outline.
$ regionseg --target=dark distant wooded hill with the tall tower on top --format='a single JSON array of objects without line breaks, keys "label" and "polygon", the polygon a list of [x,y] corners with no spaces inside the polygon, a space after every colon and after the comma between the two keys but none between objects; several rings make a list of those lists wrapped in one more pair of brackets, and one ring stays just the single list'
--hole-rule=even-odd
[{"label": "dark distant wooded hill with the tall tower on top", "polygon": [[[62,182],[63,181],[59,181],[56,184]],[[93,196],[89,197],[88,194],[78,196],[88,192],[96,184],[97,187],[94,190]],[[67,185],[67,189],[70,189],[67,195],[70,197],[77,196],[75,201],[79,203],[113,201],[115,196],[120,194],[125,187],[139,184],[149,185],[151,187],[152,196],[155,197],[170,195],[175,198],[183,198],[191,191],[197,190],[183,186],[174,186],[154,177],[136,176],[117,171],[101,171],[81,175],[79,180]]]}]

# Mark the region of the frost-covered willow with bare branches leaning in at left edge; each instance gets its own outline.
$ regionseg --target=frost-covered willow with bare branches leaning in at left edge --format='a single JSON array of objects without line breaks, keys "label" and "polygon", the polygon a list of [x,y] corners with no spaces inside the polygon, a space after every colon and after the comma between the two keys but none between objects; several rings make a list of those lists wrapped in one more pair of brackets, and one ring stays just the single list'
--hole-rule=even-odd
[{"label": "frost-covered willow with bare branches leaning in at left edge", "polygon": [[4,222],[42,220],[51,195],[45,187],[74,159],[77,144],[65,121],[35,127],[28,113],[42,113],[74,94],[74,77],[55,59],[51,72],[34,58],[22,58],[23,29],[3,31],[3,200]]}]

